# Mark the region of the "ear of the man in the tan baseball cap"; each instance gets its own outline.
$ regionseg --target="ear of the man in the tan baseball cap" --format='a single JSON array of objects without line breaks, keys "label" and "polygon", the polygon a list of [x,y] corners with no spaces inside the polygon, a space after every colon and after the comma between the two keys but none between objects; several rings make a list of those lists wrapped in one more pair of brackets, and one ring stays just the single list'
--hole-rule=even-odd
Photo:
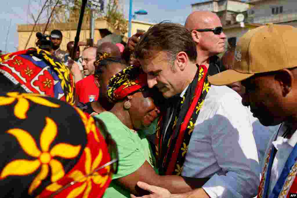
[{"label": "ear of the man in the tan baseball cap", "polygon": [[282,69],[274,76],[274,79],[278,81],[281,89],[282,95],[285,97],[292,90],[292,85],[294,83],[294,75],[288,69]]}]

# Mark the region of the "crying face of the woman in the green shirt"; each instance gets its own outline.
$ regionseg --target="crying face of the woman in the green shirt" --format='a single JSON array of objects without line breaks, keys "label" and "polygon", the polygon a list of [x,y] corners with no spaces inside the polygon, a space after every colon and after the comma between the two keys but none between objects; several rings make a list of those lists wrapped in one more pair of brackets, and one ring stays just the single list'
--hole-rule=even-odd
[{"label": "crying face of the woman in the green shirt", "polygon": [[154,92],[151,90],[136,92],[132,95],[129,115],[134,129],[144,129],[158,117],[159,109],[154,104]]}]

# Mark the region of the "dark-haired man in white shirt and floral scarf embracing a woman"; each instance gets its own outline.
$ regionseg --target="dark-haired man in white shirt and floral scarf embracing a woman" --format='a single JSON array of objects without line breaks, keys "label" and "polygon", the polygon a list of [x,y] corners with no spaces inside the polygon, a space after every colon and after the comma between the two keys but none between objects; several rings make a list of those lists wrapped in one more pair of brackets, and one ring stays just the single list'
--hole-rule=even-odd
[{"label": "dark-haired man in white shirt and floral scarf embracing a woman", "polygon": [[230,88],[208,83],[191,38],[182,26],[160,23],[135,47],[149,87],[168,99],[157,125],[159,173],[195,178],[196,197],[253,197],[260,177],[248,109]]}]

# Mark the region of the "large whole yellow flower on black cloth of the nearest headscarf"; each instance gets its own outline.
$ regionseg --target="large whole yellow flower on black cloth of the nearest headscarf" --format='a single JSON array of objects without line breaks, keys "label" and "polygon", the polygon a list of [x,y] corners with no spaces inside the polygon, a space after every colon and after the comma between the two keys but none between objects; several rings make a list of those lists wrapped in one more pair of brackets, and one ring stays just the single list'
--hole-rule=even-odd
[{"label": "large whole yellow flower on black cloth of the nearest headscarf", "polygon": [[59,143],[49,150],[50,144],[56,137],[57,126],[52,119],[45,117],[45,120],[46,125],[40,135],[41,148],[37,147],[34,138],[25,130],[10,129],[6,132],[13,135],[23,148],[23,151],[29,156],[34,157],[35,160],[17,159],[11,161],[1,171],[0,179],[4,179],[9,175],[28,175],[41,167],[40,173],[29,187],[29,194],[32,194],[32,192],[40,185],[41,181],[48,176],[49,168],[52,172],[52,182],[55,182],[64,176],[64,170],[61,168],[63,167],[62,164],[54,159],[54,157],[59,156],[71,159],[76,157],[81,149],[80,145],[73,146],[67,143]]}]

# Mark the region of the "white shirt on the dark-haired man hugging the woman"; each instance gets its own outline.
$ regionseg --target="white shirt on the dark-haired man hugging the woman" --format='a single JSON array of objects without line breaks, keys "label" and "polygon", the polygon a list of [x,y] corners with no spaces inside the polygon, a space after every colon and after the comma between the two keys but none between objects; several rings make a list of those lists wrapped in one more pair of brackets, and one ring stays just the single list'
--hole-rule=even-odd
[{"label": "white shirt on the dark-haired man hugging the woman", "polygon": [[227,86],[206,95],[186,154],[183,176],[210,179],[202,187],[211,198],[254,197],[259,161],[250,113]]}]

